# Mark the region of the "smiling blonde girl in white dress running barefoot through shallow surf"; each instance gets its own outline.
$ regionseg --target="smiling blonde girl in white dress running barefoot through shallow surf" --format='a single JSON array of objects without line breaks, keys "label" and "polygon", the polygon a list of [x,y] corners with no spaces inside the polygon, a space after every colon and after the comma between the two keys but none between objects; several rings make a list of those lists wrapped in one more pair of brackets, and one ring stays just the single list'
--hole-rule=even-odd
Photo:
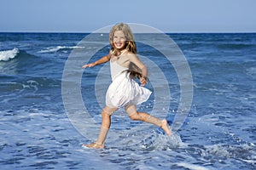
[{"label": "smiling blonde girl in white dress running barefoot through shallow surf", "polygon": [[[152,123],[171,135],[166,119],[160,121],[148,113],[137,112],[136,105],[148,100],[151,92],[143,86],[147,83],[147,67],[137,58],[137,47],[131,28],[123,23],[113,26],[109,33],[110,53],[94,63],[83,65],[93,67],[110,60],[112,83],[106,94],[106,107],[102,110],[102,126],[95,143],[83,144],[89,148],[103,148],[111,124],[111,115],[120,107],[131,120]],[[141,85],[134,80],[139,78]]]}]

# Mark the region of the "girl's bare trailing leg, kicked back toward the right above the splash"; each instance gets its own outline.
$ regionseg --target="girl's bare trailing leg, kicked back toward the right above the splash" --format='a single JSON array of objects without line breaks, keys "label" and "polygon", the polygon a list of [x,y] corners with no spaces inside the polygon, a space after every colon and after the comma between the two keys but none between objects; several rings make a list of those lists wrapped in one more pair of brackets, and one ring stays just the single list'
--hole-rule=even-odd
[{"label": "girl's bare trailing leg, kicked back toward the right above the splash", "polygon": [[172,133],[170,131],[170,128],[166,119],[160,120],[155,116],[149,115],[148,113],[137,112],[135,105],[126,106],[125,111],[127,112],[128,116],[130,116],[131,120],[152,123],[158,127],[161,127],[168,136],[171,136]]}]

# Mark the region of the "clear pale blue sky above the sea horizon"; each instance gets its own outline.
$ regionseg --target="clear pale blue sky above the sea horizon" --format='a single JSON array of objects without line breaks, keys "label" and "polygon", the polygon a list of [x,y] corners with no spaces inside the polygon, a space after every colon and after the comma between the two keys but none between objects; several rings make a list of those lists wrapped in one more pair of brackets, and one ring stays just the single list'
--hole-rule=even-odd
[{"label": "clear pale blue sky above the sea horizon", "polygon": [[116,23],[164,32],[256,32],[256,0],[0,0],[0,32],[91,32]]}]

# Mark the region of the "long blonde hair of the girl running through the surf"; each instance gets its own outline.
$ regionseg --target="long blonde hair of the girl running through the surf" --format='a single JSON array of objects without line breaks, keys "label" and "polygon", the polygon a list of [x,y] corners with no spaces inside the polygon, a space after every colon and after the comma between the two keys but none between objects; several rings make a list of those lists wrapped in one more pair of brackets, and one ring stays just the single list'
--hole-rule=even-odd
[{"label": "long blonde hair of the girl running through the surf", "polygon": [[130,26],[124,23],[119,23],[116,24],[115,26],[112,27],[110,33],[109,33],[109,42],[111,45],[111,51],[114,55],[118,56],[120,54],[120,51],[118,48],[115,48],[113,44],[113,34],[115,31],[123,31],[125,34],[125,39],[126,39],[126,47],[125,49],[128,52],[131,52],[133,54],[137,54],[137,47],[136,47],[136,42],[134,40],[133,34],[131,32]]}]

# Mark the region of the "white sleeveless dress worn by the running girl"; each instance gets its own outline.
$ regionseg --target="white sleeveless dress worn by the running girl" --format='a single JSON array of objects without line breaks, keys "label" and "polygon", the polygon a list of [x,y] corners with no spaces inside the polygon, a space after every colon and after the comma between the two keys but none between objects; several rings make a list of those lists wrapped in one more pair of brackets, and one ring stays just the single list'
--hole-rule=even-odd
[{"label": "white sleeveless dress worn by the running girl", "polygon": [[148,88],[139,86],[129,77],[125,68],[110,60],[112,83],[106,94],[106,105],[110,108],[120,108],[125,105],[138,105],[148,100],[152,93]]}]

